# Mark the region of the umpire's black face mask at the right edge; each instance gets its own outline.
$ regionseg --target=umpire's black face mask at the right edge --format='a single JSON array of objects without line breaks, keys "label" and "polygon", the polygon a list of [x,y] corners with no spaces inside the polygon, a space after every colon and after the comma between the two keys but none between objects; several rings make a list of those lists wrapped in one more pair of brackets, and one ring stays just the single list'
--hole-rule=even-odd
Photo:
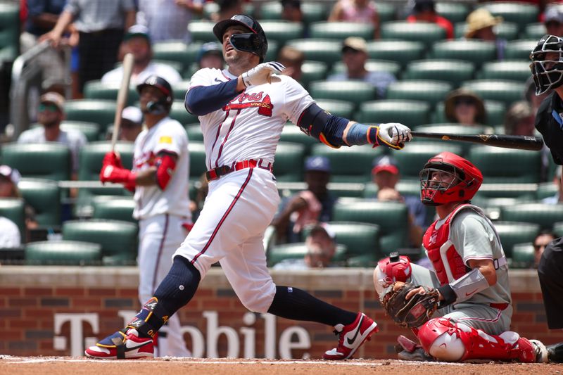
[{"label": "umpire's black face mask at the right edge", "polygon": [[[548,53],[555,56],[550,56],[548,60]],[[530,53],[530,59],[536,95],[557,89],[563,84],[563,38],[544,35]]]}]

